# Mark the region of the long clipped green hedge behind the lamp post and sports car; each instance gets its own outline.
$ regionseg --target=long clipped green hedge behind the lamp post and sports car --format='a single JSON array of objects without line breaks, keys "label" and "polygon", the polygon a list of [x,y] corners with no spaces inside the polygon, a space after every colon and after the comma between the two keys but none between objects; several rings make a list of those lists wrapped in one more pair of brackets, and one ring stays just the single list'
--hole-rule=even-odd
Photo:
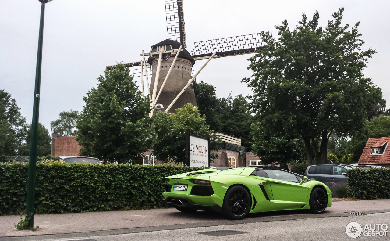
[{"label": "long clipped green hedge behind the lamp post and sports car", "polygon": [[[35,212],[113,211],[166,207],[163,177],[186,166],[38,163]],[[0,163],[0,215],[25,212],[28,163]]]}]

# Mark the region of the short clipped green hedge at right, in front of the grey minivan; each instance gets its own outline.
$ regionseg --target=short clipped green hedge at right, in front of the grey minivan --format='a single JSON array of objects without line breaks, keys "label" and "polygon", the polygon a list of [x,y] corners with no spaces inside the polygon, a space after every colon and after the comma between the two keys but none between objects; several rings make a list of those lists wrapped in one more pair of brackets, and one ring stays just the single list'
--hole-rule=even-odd
[{"label": "short clipped green hedge at right, in front of the grey minivan", "polygon": [[390,198],[390,168],[347,171],[348,195],[358,199]]}]

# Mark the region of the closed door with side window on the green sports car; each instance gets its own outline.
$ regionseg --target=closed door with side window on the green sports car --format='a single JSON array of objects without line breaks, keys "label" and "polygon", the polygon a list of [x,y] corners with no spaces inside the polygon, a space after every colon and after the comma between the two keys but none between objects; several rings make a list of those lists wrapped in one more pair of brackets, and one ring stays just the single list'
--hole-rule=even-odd
[{"label": "closed door with side window on the green sports car", "polygon": [[293,173],[282,170],[265,170],[270,181],[273,200],[287,204],[284,208],[307,202],[308,187],[299,185],[300,180]]}]

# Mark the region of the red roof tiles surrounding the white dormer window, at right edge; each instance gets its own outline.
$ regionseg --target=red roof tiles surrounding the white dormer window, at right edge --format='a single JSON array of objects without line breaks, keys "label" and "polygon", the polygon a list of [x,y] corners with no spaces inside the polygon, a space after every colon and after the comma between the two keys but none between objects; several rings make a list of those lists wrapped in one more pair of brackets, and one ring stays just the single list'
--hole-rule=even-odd
[{"label": "red roof tiles surrounding the white dormer window, at right edge", "polygon": [[371,154],[372,147],[381,147],[386,141],[390,141],[389,137],[379,137],[379,138],[370,138],[368,139],[363,153],[360,156],[359,164],[374,164],[374,163],[390,163],[390,146],[388,143],[383,148],[383,154]]}]

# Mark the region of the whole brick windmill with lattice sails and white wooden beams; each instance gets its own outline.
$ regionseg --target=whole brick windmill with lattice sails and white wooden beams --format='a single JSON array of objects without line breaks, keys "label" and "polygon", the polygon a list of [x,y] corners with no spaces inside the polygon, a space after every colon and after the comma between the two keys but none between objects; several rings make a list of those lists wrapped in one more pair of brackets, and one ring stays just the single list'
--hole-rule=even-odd
[{"label": "whole brick windmill with lattice sails and white wooden beams", "polygon": [[[129,67],[133,77],[141,77],[144,95],[144,77],[146,79],[147,93],[151,94],[151,107],[154,107],[149,117],[160,111],[173,113],[187,103],[196,106],[192,81],[211,59],[252,54],[266,45],[261,33],[247,34],[195,42],[190,54],[186,49],[183,1],[165,0],[165,13],[168,39],[151,46],[147,54],[142,50],[141,61],[124,64]],[[145,55],[149,56],[147,60]],[[195,73],[192,67],[195,61],[202,59],[207,61]],[[106,66],[107,69],[115,67]]]}]

